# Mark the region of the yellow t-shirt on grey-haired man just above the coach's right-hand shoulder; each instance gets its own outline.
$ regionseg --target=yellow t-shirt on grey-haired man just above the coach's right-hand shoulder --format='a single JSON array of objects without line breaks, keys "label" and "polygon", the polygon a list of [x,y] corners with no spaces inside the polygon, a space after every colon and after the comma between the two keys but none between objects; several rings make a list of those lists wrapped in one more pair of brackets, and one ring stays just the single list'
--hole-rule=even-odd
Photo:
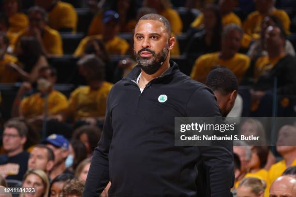
[{"label": "yellow t-shirt on grey-haired man just above the coach's right-hand shoulder", "polygon": [[231,59],[223,60],[219,58],[219,55],[220,52],[216,52],[198,57],[192,68],[191,78],[205,83],[207,74],[212,68],[219,65],[231,70],[236,75],[238,83],[240,83],[250,66],[250,58],[246,55],[236,53]]}]

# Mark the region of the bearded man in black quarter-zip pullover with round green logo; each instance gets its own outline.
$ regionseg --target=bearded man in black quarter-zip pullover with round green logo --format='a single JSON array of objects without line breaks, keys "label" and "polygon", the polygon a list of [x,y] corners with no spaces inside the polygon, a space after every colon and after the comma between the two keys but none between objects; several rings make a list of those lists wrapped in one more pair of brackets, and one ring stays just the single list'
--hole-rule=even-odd
[{"label": "bearded man in black quarter-zip pullover with round green logo", "polygon": [[195,165],[203,160],[208,195],[229,197],[232,146],[175,146],[175,117],[220,117],[212,91],[170,61],[175,38],[159,14],[146,14],[134,31],[138,65],[108,96],[101,140],[84,197],[196,197]]}]

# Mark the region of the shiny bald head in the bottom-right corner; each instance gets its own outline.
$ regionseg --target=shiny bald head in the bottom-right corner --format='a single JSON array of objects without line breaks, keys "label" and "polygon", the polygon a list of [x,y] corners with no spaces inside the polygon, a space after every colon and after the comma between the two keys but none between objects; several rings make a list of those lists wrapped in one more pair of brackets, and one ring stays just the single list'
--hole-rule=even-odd
[{"label": "shiny bald head in the bottom-right corner", "polygon": [[270,186],[269,197],[295,197],[296,178],[292,176],[281,176]]}]

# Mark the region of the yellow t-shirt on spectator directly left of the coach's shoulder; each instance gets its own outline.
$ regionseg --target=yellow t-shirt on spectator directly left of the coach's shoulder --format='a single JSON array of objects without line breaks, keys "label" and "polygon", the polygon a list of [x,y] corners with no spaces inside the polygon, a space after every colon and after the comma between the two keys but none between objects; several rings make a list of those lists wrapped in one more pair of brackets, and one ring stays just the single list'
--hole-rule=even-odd
[{"label": "yellow t-shirt on spectator directly left of the coach's shoulder", "polygon": [[113,84],[103,82],[98,90],[89,86],[76,88],[70,95],[67,113],[74,120],[83,117],[101,117],[105,115],[106,101]]}]

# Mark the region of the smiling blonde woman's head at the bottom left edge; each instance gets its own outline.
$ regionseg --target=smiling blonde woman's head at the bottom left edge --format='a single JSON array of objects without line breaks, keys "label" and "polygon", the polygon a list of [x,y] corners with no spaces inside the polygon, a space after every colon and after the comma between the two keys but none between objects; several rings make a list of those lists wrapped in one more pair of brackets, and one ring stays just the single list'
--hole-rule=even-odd
[{"label": "smiling blonde woman's head at the bottom left edge", "polygon": [[[41,169],[29,169],[24,175],[23,187],[34,187],[34,197],[47,197],[49,181],[47,174]],[[22,193],[20,197],[28,197],[30,193]]]}]

